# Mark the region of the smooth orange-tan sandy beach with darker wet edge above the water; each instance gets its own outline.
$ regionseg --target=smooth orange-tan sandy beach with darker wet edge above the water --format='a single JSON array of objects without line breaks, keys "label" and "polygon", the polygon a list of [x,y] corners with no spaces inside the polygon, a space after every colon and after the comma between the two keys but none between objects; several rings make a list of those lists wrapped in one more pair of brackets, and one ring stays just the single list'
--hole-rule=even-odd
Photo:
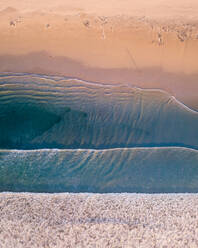
[{"label": "smooth orange-tan sandy beach with darker wet edge above the water", "polygon": [[160,88],[198,110],[197,0],[0,2],[0,73]]}]

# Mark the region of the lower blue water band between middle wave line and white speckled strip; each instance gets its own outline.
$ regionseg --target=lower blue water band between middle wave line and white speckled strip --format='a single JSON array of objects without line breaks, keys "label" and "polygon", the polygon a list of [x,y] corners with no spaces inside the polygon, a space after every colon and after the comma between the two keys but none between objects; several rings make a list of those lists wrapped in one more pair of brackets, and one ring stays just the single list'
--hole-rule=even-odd
[{"label": "lower blue water band between middle wave line and white speckled strip", "polygon": [[0,191],[198,192],[198,151],[1,150]]}]

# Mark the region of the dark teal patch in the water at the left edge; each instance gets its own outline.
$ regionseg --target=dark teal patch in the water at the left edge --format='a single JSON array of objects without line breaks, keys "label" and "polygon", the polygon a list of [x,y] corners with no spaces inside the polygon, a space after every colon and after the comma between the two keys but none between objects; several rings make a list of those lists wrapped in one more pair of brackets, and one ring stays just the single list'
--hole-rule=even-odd
[{"label": "dark teal patch in the water at the left edge", "polygon": [[44,105],[16,103],[1,105],[0,147],[23,148],[32,139],[60,122],[61,116]]}]

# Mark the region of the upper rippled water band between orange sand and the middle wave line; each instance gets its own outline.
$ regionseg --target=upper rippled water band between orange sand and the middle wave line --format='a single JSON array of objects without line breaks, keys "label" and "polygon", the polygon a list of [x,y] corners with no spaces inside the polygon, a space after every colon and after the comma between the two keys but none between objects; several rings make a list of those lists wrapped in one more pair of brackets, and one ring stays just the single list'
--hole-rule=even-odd
[{"label": "upper rippled water band between orange sand and the middle wave line", "polygon": [[198,148],[198,113],[164,91],[0,77],[0,148]]}]

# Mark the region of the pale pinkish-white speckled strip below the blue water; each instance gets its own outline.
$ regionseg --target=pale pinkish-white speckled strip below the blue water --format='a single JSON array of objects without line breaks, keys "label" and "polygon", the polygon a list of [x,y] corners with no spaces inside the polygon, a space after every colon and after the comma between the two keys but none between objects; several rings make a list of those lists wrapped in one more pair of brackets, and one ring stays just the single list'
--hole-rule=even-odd
[{"label": "pale pinkish-white speckled strip below the blue water", "polygon": [[197,194],[0,194],[0,247],[198,247]]}]

